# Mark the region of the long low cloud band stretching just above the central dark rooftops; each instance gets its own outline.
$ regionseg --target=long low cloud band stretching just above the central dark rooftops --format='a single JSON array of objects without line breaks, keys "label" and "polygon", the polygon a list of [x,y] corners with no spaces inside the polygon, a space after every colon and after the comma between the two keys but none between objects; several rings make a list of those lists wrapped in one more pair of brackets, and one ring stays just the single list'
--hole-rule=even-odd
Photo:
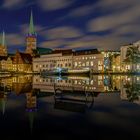
[{"label": "long low cloud band stretching just above the central dark rooftops", "polygon": [[86,49],[97,48],[99,50],[119,50],[119,48],[130,42],[136,41],[136,37],[119,36],[115,34],[97,36],[85,35],[74,40],[54,39],[44,41],[39,44],[40,47],[45,48],[67,48],[67,49]]}]

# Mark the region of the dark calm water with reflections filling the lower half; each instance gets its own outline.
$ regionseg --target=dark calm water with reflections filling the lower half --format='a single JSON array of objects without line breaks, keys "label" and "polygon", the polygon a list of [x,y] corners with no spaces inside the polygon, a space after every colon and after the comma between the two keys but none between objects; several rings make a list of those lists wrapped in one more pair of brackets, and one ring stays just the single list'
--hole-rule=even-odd
[{"label": "dark calm water with reflections filling the lower half", "polygon": [[5,139],[140,139],[140,76],[0,79]]}]

